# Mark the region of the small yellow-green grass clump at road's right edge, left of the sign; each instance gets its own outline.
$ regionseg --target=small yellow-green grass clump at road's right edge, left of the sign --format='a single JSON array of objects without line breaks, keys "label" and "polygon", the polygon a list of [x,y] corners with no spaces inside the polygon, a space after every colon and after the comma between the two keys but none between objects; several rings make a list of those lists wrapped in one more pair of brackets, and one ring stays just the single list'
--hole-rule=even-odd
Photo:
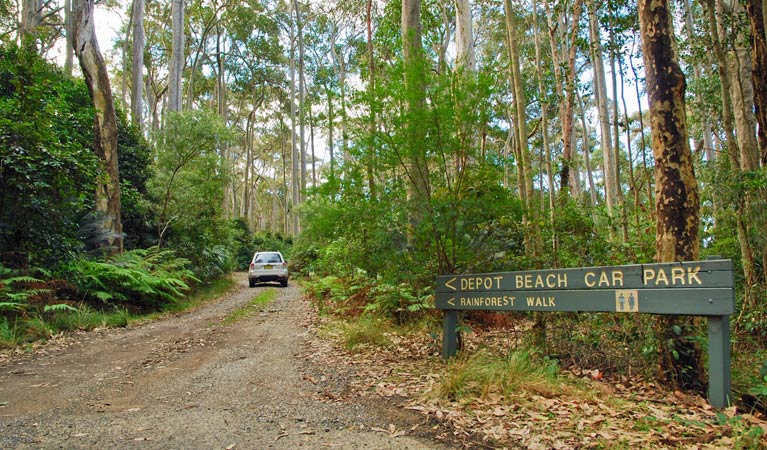
[{"label": "small yellow-green grass clump at road's right edge, left of the sign", "polygon": [[345,349],[352,352],[366,347],[390,345],[391,340],[386,335],[390,331],[391,323],[373,316],[363,316],[351,322],[334,320],[321,329],[324,336],[340,342]]}]

